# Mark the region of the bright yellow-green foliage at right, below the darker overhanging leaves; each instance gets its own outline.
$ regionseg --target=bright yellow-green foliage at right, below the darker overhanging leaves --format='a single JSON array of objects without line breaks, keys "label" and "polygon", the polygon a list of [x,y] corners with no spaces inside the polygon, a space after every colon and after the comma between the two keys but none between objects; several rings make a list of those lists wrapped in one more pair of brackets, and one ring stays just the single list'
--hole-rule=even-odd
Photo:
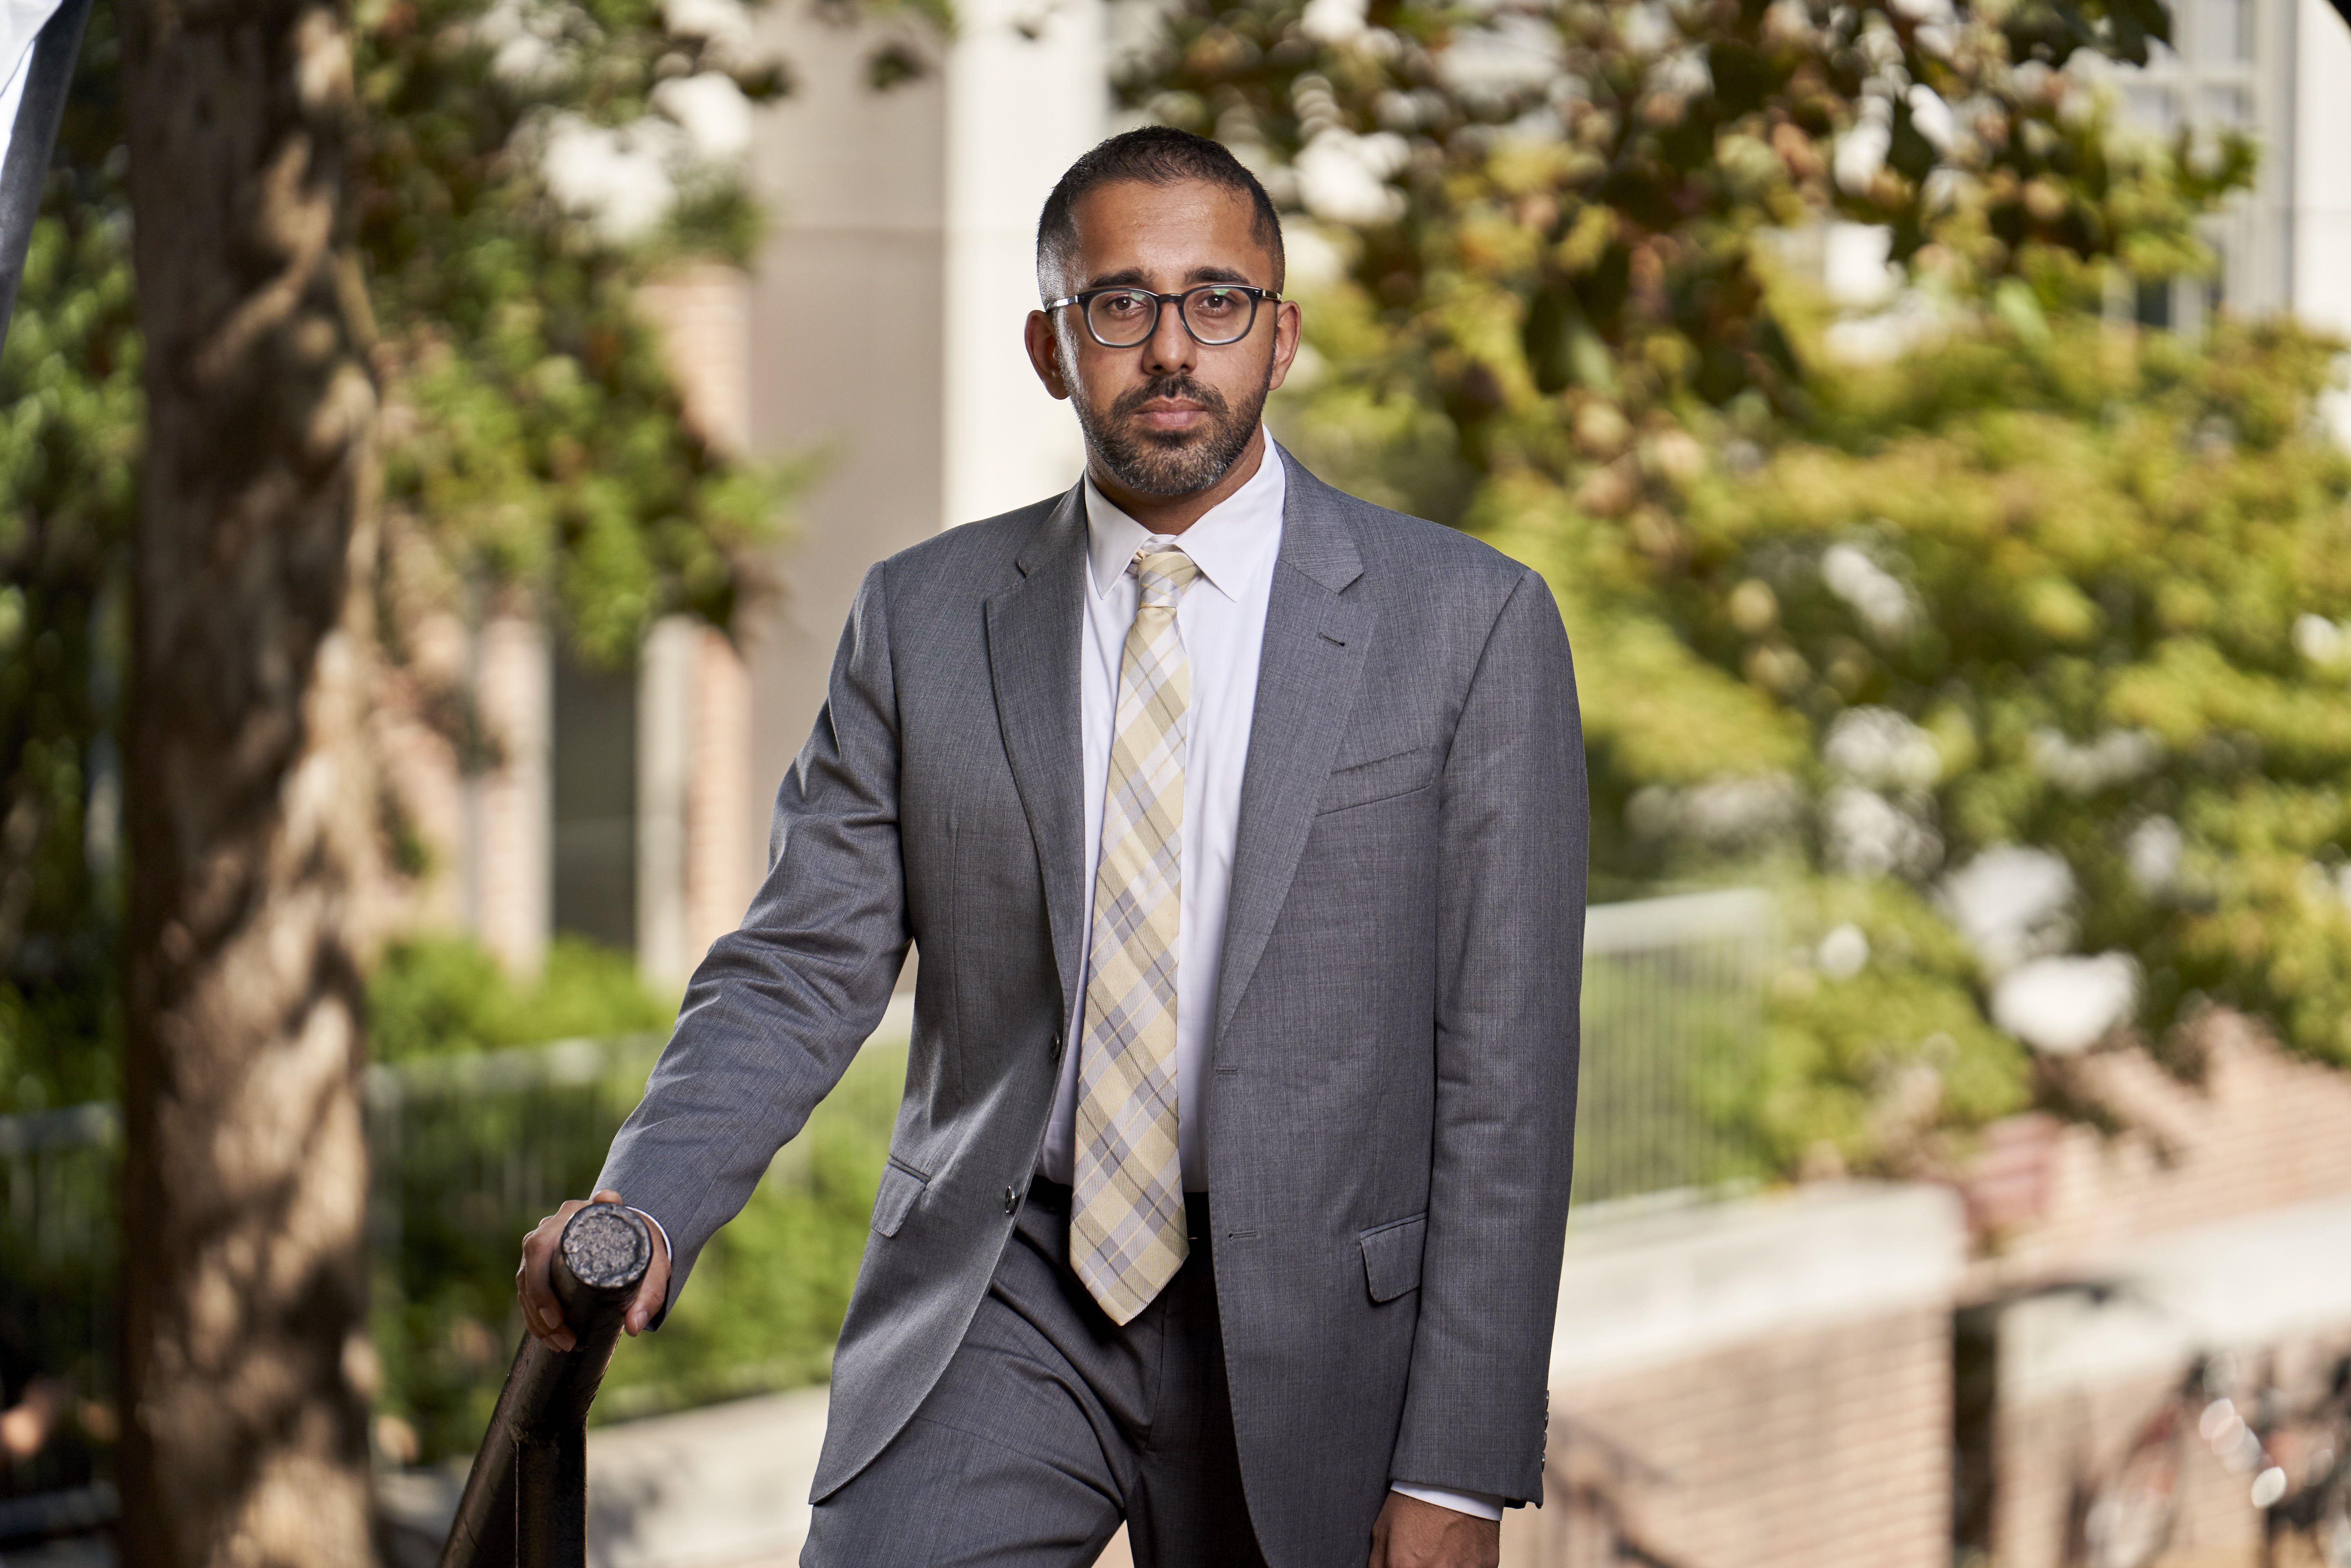
[{"label": "bright yellow-green foliage at right, below the darker overhanging leaves", "polygon": [[[1827,1138],[1874,1164],[1933,1114],[2017,1107],[1994,983],[2069,947],[2135,959],[2149,1032],[2219,1001],[2351,1060],[2351,463],[2316,421],[2327,374],[2283,324],[2193,348],[1980,322],[1817,374],[1810,440],[1690,470],[1648,522],[1662,552],[1556,489],[1481,494],[1582,646],[1615,875],[1817,867],[1836,879],[1794,900],[1796,933],[1867,940],[1860,976],[1780,987],[1759,1114],[1782,1159]],[[1660,679],[1667,637],[1702,682]],[[2017,844],[2071,896],[1970,950],[1951,875]],[[1925,1058],[1940,1105],[1888,1110]]]}]

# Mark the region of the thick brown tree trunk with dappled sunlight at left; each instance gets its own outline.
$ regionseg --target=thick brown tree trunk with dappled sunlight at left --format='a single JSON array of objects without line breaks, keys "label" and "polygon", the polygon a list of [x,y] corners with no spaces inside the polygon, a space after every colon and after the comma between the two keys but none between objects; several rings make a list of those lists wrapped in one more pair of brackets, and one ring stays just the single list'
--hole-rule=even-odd
[{"label": "thick brown tree trunk with dappled sunlight at left", "polygon": [[303,0],[127,0],[148,447],[127,719],[122,1544],[371,1561],[355,910],[364,303],[350,47]]}]

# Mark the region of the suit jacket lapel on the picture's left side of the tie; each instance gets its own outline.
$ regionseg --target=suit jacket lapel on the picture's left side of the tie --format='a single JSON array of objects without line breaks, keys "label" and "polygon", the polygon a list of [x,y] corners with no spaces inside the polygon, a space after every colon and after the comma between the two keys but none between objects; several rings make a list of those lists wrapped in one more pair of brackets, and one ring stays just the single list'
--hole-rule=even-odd
[{"label": "suit jacket lapel on the picture's left side of the tie", "polygon": [[1020,550],[1020,581],[987,599],[987,668],[1004,752],[1037,839],[1046,924],[1065,1006],[1077,997],[1079,884],[1086,872],[1084,731],[1077,646],[1084,632],[1086,508],[1072,489]]}]

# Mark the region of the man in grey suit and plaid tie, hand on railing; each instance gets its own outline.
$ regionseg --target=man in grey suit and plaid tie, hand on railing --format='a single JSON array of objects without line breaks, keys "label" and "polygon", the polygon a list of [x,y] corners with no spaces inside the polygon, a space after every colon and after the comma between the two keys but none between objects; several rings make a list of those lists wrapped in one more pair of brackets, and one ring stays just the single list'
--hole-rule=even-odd
[{"label": "man in grey suit and plaid tie, hand on railing", "polygon": [[[600,1197],[675,1253],[922,950],[811,1568],[1498,1561],[1540,1500],[1575,1121],[1582,743],[1542,581],[1265,437],[1281,230],[1114,136],[1037,230],[1070,494],[875,567],[766,884]],[[527,1244],[534,1333],[564,1218]],[[675,1267],[672,1267],[675,1258]]]}]

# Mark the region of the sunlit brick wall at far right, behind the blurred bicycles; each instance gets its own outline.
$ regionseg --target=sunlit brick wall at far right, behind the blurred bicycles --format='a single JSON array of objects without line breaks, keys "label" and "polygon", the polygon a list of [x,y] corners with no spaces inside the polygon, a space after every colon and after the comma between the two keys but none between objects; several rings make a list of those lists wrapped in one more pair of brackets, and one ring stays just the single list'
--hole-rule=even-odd
[{"label": "sunlit brick wall at far right, behind the blurred bicycles", "polygon": [[[2201,1084],[2135,1048],[2062,1063],[2123,1131],[2020,1117],[1963,1182],[1980,1246],[1963,1291],[1996,1345],[1982,1544],[1998,1568],[2085,1561],[2085,1514],[2201,1359],[2231,1356],[2241,1394],[2304,1401],[2351,1352],[2351,1074],[2236,1016],[2198,1046]],[[2252,1568],[2248,1490],[2186,1432],[2163,1568]]]}]

